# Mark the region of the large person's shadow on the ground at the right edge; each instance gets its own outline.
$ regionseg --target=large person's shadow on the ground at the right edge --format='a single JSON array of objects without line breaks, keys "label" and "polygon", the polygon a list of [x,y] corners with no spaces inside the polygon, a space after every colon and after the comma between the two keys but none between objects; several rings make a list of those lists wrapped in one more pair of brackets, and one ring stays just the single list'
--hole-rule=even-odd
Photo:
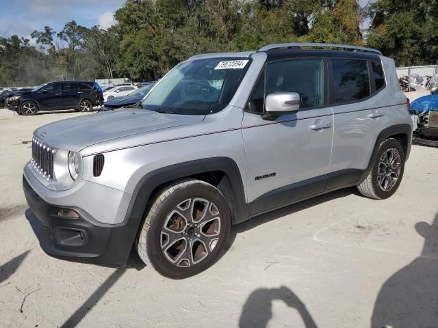
[{"label": "large person's shadow on the ground at the right edge", "polygon": [[419,222],[415,230],[424,237],[422,254],[383,284],[372,328],[438,327],[438,213],[431,225]]}]

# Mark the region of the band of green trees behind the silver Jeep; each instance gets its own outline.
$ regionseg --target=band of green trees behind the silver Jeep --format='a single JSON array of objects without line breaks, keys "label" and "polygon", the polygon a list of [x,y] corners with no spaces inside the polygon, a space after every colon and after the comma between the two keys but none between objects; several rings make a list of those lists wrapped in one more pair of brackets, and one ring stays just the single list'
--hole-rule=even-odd
[{"label": "band of green trees behind the silver Jeep", "polygon": [[[127,0],[109,29],[49,26],[0,38],[0,85],[129,77],[151,81],[198,53],[281,42],[372,46],[398,65],[438,59],[437,0]],[[361,33],[370,23],[366,40]]]}]

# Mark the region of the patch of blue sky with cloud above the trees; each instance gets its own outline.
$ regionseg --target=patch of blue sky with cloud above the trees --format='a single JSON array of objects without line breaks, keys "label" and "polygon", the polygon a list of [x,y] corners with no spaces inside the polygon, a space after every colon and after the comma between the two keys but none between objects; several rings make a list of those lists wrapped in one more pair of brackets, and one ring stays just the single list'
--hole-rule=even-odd
[{"label": "patch of blue sky with cloud above the trees", "polygon": [[125,0],[0,0],[0,36],[25,36],[49,25],[56,32],[70,20],[79,25],[107,28]]}]

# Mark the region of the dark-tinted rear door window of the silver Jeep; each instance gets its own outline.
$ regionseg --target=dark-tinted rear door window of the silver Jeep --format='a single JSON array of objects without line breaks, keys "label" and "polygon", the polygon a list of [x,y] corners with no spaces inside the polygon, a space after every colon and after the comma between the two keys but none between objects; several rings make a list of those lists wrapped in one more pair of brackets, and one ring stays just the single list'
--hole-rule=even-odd
[{"label": "dark-tinted rear door window of the silver Jeep", "polygon": [[332,59],[332,102],[339,104],[370,96],[368,64],[360,59]]}]

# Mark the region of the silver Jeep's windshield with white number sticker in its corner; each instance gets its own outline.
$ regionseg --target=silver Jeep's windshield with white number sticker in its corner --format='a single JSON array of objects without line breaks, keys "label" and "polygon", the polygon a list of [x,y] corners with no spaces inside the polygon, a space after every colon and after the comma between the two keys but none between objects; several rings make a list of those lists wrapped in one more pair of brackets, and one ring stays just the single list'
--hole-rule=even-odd
[{"label": "silver Jeep's windshield with white number sticker in its corner", "polygon": [[142,100],[151,111],[185,115],[217,113],[228,105],[250,63],[248,58],[184,61]]}]

